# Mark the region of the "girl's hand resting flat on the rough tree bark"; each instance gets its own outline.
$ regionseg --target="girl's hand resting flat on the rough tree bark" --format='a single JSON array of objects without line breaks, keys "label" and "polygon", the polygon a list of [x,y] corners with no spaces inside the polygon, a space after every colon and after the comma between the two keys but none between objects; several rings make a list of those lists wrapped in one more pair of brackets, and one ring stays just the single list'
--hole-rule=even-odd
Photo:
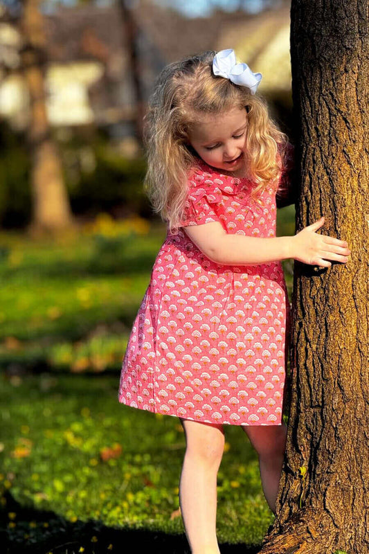
[{"label": "girl's hand resting flat on the rough tree bark", "polygon": [[295,260],[309,265],[330,267],[334,262],[345,263],[350,256],[345,240],[318,235],[316,231],[324,225],[324,217],[291,237],[292,256]]}]

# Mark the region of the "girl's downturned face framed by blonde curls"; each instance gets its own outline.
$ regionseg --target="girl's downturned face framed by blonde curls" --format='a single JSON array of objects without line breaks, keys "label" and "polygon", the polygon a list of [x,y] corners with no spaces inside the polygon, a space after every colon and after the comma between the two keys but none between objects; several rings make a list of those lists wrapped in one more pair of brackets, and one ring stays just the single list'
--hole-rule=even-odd
[{"label": "girl's downturned face framed by blonde curls", "polygon": [[188,133],[190,145],[208,166],[243,177],[246,116],[246,109],[239,107],[204,115]]}]

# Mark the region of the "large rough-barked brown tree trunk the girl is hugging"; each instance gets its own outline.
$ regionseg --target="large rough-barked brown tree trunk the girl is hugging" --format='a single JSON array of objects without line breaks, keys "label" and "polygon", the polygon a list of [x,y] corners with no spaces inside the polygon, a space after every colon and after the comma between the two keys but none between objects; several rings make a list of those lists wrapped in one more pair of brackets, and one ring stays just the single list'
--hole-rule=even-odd
[{"label": "large rough-barked brown tree trunk the girl is hugging", "polygon": [[368,0],[292,0],[297,229],[324,215],[352,253],[296,263],[287,452],[262,554],[369,552],[368,38]]}]

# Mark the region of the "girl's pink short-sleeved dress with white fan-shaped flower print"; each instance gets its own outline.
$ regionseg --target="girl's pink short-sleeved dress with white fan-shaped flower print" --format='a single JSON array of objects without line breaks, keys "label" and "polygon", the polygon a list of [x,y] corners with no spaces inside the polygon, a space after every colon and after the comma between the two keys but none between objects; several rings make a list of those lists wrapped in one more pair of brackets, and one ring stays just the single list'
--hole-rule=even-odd
[{"label": "girl's pink short-sleeved dress with white fan-shaped flower print", "polygon": [[[276,190],[258,204],[246,179],[204,162],[189,178],[183,226],[276,235]],[[183,229],[168,233],[120,374],[127,406],[208,423],[280,425],[289,303],[280,262],[219,265]]]}]

